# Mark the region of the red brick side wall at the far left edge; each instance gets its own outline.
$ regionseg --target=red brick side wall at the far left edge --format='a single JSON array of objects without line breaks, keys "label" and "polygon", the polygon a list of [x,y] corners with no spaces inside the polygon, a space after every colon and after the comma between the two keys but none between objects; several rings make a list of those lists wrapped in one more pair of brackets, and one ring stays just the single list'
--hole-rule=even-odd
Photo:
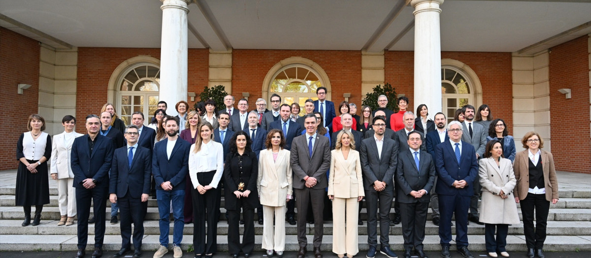
[{"label": "red brick side wall at the far left edge", "polygon": [[[39,52],[37,41],[0,27],[0,102],[4,108],[0,130],[0,170],[15,169],[17,141],[27,131],[27,118],[38,112]],[[17,94],[17,84],[30,84]]]}]

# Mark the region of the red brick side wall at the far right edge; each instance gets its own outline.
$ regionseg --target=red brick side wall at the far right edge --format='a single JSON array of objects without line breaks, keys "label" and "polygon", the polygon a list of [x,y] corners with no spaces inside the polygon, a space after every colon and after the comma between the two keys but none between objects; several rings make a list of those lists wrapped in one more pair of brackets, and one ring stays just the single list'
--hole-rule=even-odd
[{"label": "red brick side wall at the far right edge", "polygon": [[[587,35],[551,48],[550,137],[557,170],[591,173]],[[570,88],[572,98],[558,92]]]}]

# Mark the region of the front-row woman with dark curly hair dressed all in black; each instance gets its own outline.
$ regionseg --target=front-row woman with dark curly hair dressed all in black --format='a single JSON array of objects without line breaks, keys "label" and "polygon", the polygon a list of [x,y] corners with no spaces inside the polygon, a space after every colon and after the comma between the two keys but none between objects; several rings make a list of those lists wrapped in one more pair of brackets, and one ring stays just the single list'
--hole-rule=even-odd
[{"label": "front-row woman with dark curly hair dressed all in black", "polygon": [[[232,135],[230,153],[223,171],[228,210],[228,252],[232,257],[238,257],[241,250],[245,257],[249,257],[255,247],[254,209],[259,206],[256,188],[258,158],[251,145],[251,138],[245,131],[237,131]],[[244,219],[242,244],[238,226],[241,209]]]}]

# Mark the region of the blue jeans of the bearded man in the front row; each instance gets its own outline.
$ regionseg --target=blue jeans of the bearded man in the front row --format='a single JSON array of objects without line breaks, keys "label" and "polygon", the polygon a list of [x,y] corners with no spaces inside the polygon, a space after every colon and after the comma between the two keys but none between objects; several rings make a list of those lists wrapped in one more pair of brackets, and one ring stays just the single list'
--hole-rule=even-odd
[{"label": "blue jeans of the bearded man in the front row", "polygon": [[170,204],[173,204],[173,244],[181,246],[184,228],[184,189],[164,191],[156,189],[158,213],[160,213],[160,244],[168,247],[168,232],[170,231]]}]

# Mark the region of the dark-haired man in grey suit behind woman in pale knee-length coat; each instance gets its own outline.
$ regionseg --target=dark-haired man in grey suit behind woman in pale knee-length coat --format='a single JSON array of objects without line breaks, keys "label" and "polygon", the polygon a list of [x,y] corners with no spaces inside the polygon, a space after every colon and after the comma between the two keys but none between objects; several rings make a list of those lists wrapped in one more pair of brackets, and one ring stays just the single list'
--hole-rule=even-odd
[{"label": "dark-haired man in grey suit behind woman in pale knee-length coat", "polygon": [[[484,154],[486,147],[486,135],[488,135],[488,128],[482,127],[480,124],[474,123],[475,108],[472,105],[464,105],[462,107],[462,114],[464,115],[464,123],[462,123],[463,134],[462,141],[472,144],[476,150],[476,158],[480,158]],[[474,195],[470,199],[470,214],[468,214],[468,221],[483,225],[478,217],[478,197],[480,196],[480,178],[476,175],[474,183]]]}]

